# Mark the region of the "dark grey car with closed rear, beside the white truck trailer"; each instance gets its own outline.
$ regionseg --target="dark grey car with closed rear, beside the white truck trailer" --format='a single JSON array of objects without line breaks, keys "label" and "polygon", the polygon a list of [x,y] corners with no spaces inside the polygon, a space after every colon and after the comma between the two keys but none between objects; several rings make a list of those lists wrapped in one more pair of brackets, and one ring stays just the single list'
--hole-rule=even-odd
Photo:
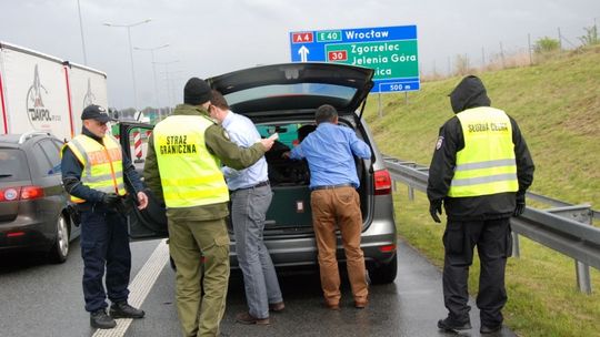
[{"label": "dark grey car with closed rear, beside the white truck trailer", "polygon": [[0,252],[47,253],[62,263],[79,235],[60,172],[62,142],[44,132],[0,135]]}]

